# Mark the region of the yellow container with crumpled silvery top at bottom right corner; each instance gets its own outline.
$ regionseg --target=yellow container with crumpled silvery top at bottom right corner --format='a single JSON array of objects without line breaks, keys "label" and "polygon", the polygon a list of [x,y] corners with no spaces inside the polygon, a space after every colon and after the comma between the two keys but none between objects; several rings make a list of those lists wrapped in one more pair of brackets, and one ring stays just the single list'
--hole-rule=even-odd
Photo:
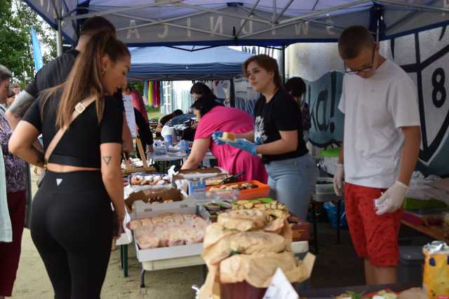
[{"label": "yellow container with crumpled silvery top at bottom right corner", "polygon": [[422,286],[429,299],[449,297],[449,246],[434,241],[422,249],[424,253],[424,274]]}]

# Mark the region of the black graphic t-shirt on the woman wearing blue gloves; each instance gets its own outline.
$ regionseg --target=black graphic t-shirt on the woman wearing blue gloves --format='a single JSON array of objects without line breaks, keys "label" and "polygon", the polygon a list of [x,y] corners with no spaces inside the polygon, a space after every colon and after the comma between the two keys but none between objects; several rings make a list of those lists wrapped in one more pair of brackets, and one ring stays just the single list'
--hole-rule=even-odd
[{"label": "black graphic t-shirt on the woman wearing blue gloves", "polygon": [[279,89],[268,103],[262,95],[255,104],[254,118],[254,137],[258,143],[269,144],[281,139],[279,131],[297,130],[296,151],[280,155],[262,155],[264,163],[297,158],[308,153],[302,137],[300,107],[285,90]]}]

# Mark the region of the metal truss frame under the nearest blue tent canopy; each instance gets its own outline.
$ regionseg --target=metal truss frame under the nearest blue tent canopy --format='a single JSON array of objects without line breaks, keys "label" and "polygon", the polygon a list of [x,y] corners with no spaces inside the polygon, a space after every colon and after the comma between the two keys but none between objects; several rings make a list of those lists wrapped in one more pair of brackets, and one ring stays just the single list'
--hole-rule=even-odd
[{"label": "metal truss frame under the nearest blue tent canopy", "polygon": [[[398,0],[358,0],[358,1],[352,1],[349,4],[342,4],[340,6],[333,6],[330,8],[325,8],[325,9],[321,9],[319,11],[314,11],[311,13],[307,13],[301,16],[297,16],[297,17],[292,17],[292,18],[286,18],[284,20],[281,20],[282,17],[285,17],[285,13],[287,11],[287,9],[290,7],[290,5],[293,3],[294,0],[289,0],[287,2],[287,4],[281,9],[280,13],[277,13],[277,7],[276,7],[276,0],[273,0],[273,15],[271,20],[266,19],[266,18],[260,18],[257,17],[255,15],[255,12],[258,8],[259,4],[260,4],[260,0],[257,0],[255,2],[255,4],[253,4],[253,7],[248,9],[244,6],[241,6],[241,4],[228,4],[228,5],[234,5],[234,6],[238,6],[239,8],[242,8],[246,11],[248,11],[248,15],[247,16],[242,16],[242,15],[236,15],[234,13],[228,13],[223,11],[224,8],[227,8],[227,6],[222,6],[220,8],[216,8],[216,9],[210,9],[210,8],[206,8],[203,6],[197,6],[194,4],[186,4],[183,3],[182,0],[160,0],[160,1],[156,1],[155,3],[150,3],[150,4],[140,4],[140,5],[135,5],[135,6],[129,6],[126,8],[115,8],[115,9],[110,9],[108,11],[95,11],[95,7],[90,8],[90,7],[80,7],[79,9],[86,9],[89,12],[85,13],[85,14],[81,14],[81,15],[73,15],[74,13],[76,13],[76,11],[79,10],[73,10],[70,11],[69,13],[67,13],[66,15],[62,14],[62,5],[63,5],[63,0],[51,0],[53,2],[53,5],[55,8],[58,8],[58,11],[55,11],[55,15],[57,16],[57,29],[58,29],[58,33],[57,33],[57,50],[58,50],[58,55],[62,54],[62,22],[73,22],[76,20],[81,20],[81,19],[86,19],[86,18],[90,18],[92,16],[95,15],[119,15],[121,17],[132,17],[134,20],[142,20],[142,21],[146,21],[147,23],[145,24],[141,24],[141,25],[133,25],[133,26],[128,26],[128,27],[122,27],[122,28],[118,28],[117,32],[123,31],[123,30],[128,30],[128,29],[138,29],[140,27],[147,27],[147,26],[153,26],[153,25],[166,25],[166,26],[170,26],[170,27],[177,27],[177,28],[181,28],[181,29],[189,29],[190,31],[194,31],[194,32],[201,32],[201,33],[205,33],[205,34],[212,34],[214,36],[222,36],[225,39],[229,39],[229,44],[234,44],[235,41],[242,41],[244,39],[248,39],[251,36],[257,36],[258,34],[262,34],[264,32],[270,32],[272,30],[276,30],[276,29],[281,29],[283,27],[288,27],[291,25],[295,25],[297,23],[300,22],[312,22],[318,25],[323,25],[323,26],[332,26],[332,27],[339,27],[339,28],[344,28],[341,25],[337,25],[334,23],[330,23],[330,22],[326,22],[320,19],[316,19],[319,18],[320,16],[323,16],[323,19],[326,19],[326,17],[328,17],[328,15],[330,13],[334,13],[336,11],[340,11],[342,9],[346,9],[346,8],[355,8],[357,6],[361,6],[363,4],[375,4],[375,5],[382,5],[382,4],[389,4],[389,5],[398,5],[401,7],[408,7],[408,8],[413,8],[416,11],[429,11],[429,12],[435,12],[435,13],[449,13],[449,8],[440,8],[440,7],[434,7],[431,6],[431,4],[429,5],[422,5],[422,4],[412,4],[412,3],[406,3],[406,2],[402,2],[402,1],[398,1]],[[179,7],[184,7],[184,8],[192,8],[193,10],[196,10],[195,13],[189,13],[187,15],[181,15],[175,18],[166,18],[163,20],[155,20],[155,19],[151,19],[151,18],[140,18],[140,17],[135,17],[135,16],[131,16],[131,15],[127,15],[126,12],[127,11],[137,11],[139,9],[142,8],[151,8],[151,7],[161,7],[161,6],[179,6]],[[262,9],[260,9],[262,11]],[[93,12],[92,12],[93,11]],[[241,20],[243,20],[243,25],[239,28],[238,32],[234,32],[234,35],[229,35],[229,34],[220,34],[218,32],[212,32],[211,30],[207,30],[207,29],[199,29],[199,28],[195,28],[195,27],[187,27],[184,25],[178,25],[173,23],[176,20],[183,20],[186,18],[190,18],[193,16],[197,16],[197,15],[201,15],[204,13],[212,13],[214,15],[217,16],[227,16],[227,17],[232,17],[232,18],[239,18]],[[404,18],[405,19],[405,18]],[[242,30],[243,27],[246,25],[246,22],[248,21],[252,21],[252,22],[260,22],[264,25],[271,25],[270,28],[268,29],[262,29],[259,30],[257,32],[252,32],[252,33],[248,33],[248,34],[242,34]],[[396,22],[394,24],[394,26],[397,26],[399,24],[401,24],[402,22],[404,22],[405,20],[401,20],[399,22]],[[391,27],[390,27],[391,28]],[[387,28],[389,29],[389,28]],[[377,30],[376,30],[377,31]],[[374,34],[375,32],[373,32]],[[381,34],[382,36],[382,34]],[[286,45],[284,45],[286,46]]]}]

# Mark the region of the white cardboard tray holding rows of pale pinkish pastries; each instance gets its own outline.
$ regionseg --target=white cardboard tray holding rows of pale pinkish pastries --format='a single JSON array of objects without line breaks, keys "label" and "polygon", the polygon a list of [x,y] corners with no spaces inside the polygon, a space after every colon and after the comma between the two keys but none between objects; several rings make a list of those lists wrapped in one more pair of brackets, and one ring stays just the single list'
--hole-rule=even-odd
[{"label": "white cardboard tray holding rows of pale pinkish pastries", "polygon": [[[182,202],[168,202],[166,204],[154,204],[154,205],[150,204],[152,206],[151,211],[148,211],[145,208],[145,205],[148,204],[145,205],[142,204],[145,204],[145,202],[135,202],[135,209],[132,218],[136,216],[140,218],[151,218],[159,216],[160,214],[170,212],[173,214],[198,214],[201,217],[203,217],[204,220],[206,221],[209,220],[206,209],[204,209],[201,206],[197,206],[195,202],[191,199],[183,200]],[[136,241],[134,241],[134,244],[135,244],[135,256],[138,258],[140,263],[151,262],[154,260],[166,260],[168,258],[185,258],[187,256],[200,256],[201,253],[203,252],[203,243],[181,245],[181,246],[158,247],[153,249],[140,249]]]}]

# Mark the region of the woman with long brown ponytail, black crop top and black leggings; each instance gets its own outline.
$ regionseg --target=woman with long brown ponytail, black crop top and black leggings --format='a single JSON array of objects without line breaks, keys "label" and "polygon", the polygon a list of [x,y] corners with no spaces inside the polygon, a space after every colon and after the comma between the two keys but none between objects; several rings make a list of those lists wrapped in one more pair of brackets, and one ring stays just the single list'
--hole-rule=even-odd
[{"label": "woman with long brown ponytail, black crop top and black leggings", "polygon": [[46,153],[54,148],[34,197],[31,233],[57,299],[100,298],[113,231],[121,230],[125,212],[123,104],[113,95],[126,86],[129,67],[121,41],[111,32],[94,34],[67,81],[39,95],[9,142],[12,153],[40,167],[37,136],[43,134]]}]

